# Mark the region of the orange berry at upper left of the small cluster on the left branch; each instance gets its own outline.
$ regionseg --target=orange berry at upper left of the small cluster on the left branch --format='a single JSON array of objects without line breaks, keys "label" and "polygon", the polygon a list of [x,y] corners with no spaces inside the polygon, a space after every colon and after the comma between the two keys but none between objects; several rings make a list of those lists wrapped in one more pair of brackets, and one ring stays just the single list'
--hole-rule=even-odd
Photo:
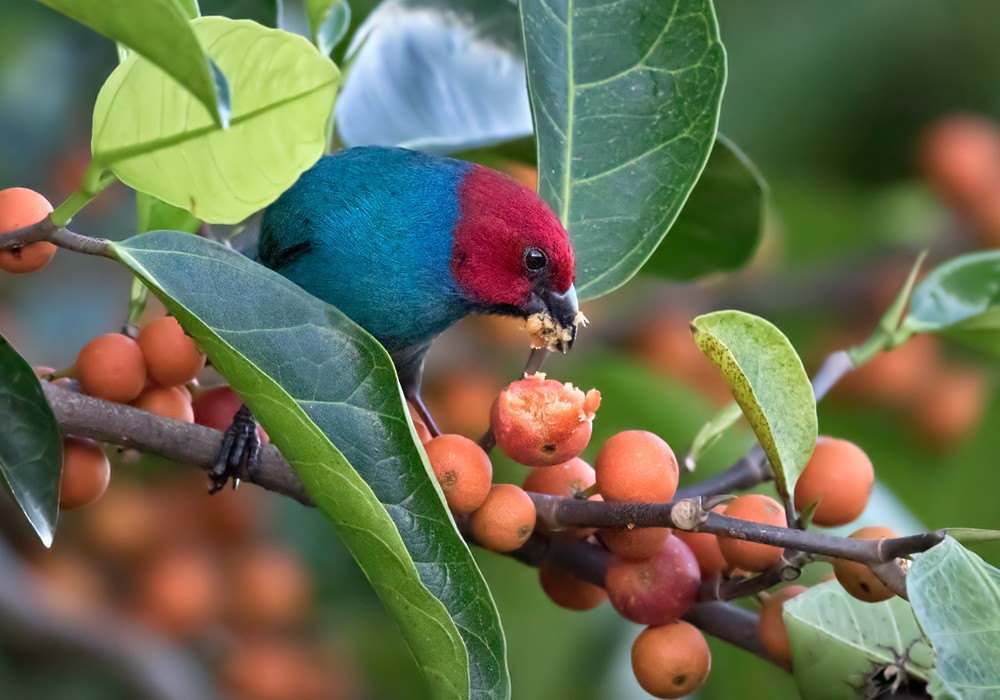
[{"label": "orange berry at upper left of the small cluster on the left branch", "polygon": [[73,374],[85,394],[128,403],[146,386],[146,362],[139,344],[121,333],[94,338],[77,355]]}]

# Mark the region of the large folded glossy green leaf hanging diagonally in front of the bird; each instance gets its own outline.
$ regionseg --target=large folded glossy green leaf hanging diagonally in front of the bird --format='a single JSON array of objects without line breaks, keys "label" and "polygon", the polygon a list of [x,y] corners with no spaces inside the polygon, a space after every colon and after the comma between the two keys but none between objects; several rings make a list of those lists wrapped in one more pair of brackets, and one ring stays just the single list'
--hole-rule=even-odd
[{"label": "large folded glossy green leaf hanging diagonally in front of the bird", "polygon": [[[158,231],[113,246],[244,397],[395,616],[443,698],[506,698],[503,632],[388,354],[239,253]],[[471,690],[470,690],[471,688]]]}]

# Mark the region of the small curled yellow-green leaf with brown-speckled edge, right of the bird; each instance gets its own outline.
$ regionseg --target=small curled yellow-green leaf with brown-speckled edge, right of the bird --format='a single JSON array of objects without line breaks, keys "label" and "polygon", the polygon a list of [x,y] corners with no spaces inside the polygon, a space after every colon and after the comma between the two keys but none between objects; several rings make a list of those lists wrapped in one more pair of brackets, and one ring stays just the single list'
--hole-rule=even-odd
[{"label": "small curled yellow-green leaf with brown-speckled edge, right of the bird", "polygon": [[742,311],[691,322],[695,343],[722,371],[790,500],[816,447],[816,399],[795,348],[773,324]]}]

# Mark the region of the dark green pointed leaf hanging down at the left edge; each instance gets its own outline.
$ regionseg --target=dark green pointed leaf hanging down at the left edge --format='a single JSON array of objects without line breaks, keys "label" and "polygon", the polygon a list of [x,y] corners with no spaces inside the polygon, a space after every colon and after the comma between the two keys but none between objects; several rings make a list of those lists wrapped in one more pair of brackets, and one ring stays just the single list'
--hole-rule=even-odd
[{"label": "dark green pointed leaf hanging down at the left edge", "polygon": [[59,517],[62,434],[31,365],[0,337],[0,476],[46,547]]}]

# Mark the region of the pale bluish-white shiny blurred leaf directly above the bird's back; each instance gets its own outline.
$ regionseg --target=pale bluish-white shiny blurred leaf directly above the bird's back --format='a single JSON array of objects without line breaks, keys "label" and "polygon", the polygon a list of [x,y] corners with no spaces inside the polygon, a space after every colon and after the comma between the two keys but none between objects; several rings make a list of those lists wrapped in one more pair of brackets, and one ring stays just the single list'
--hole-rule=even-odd
[{"label": "pale bluish-white shiny blurred leaf directly above the bird's back", "polygon": [[454,153],[531,133],[508,0],[387,0],[355,32],[347,60],[337,129],[348,146]]}]

